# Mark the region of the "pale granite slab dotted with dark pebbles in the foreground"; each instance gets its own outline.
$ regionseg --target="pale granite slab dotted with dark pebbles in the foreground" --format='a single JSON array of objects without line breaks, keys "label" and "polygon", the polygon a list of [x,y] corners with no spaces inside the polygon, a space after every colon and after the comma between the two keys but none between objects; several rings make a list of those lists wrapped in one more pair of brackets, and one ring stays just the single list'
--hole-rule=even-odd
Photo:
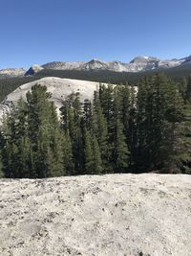
[{"label": "pale granite slab dotted with dark pebbles in the foreground", "polygon": [[0,180],[0,255],[191,255],[191,176]]}]

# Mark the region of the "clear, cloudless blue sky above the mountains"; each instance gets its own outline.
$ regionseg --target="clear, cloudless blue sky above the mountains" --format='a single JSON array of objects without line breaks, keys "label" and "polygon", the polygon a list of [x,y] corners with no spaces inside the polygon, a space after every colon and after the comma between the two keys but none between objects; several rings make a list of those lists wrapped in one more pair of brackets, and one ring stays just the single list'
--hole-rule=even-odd
[{"label": "clear, cloudless blue sky above the mountains", "polygon": [[191,0],[0,0],[0,68],[191,55]]}]

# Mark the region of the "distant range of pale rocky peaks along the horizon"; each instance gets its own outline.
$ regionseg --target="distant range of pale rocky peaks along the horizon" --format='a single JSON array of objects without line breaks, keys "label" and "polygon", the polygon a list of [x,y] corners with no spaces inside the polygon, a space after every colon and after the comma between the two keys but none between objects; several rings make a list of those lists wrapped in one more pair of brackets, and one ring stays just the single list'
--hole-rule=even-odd
[{"label": "distant range of pale rocky peaks along the horizon", "polygon": [[107,70],[115,72],[141,72],[158,69],[168,69],[184,64],[191,64],[191,56],[185,58],[159,59],[155,57],[139,56],[133,58],[129,63],[121,61],[102,61],[92,59],[90,61],[53,61],[43,65],[34,64],[29,70],[24,68],[6,68],[0,70],[0,77],[24,77],[32,76],[41,70],[78,70],[97,71]]}]

